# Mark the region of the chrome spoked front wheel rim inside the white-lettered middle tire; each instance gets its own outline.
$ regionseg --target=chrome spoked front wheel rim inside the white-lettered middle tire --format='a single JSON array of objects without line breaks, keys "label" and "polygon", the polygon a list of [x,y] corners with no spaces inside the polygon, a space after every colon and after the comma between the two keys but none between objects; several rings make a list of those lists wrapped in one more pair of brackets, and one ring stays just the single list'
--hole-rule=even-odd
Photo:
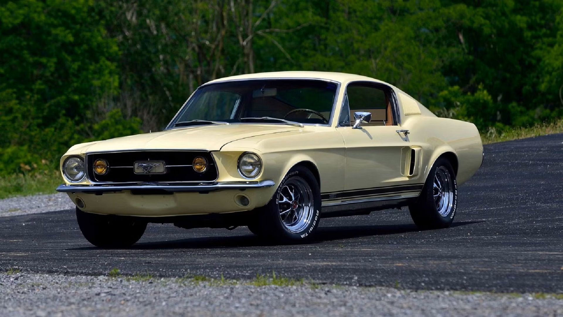
[{"label": "chrome spoked front wheel rim inside the white-lettered middle tire", "polygon": [[314,214],[313,194],[309,184],[300,177],[288,179],[278,194],[280,219],[287,230],[301,232]]}]

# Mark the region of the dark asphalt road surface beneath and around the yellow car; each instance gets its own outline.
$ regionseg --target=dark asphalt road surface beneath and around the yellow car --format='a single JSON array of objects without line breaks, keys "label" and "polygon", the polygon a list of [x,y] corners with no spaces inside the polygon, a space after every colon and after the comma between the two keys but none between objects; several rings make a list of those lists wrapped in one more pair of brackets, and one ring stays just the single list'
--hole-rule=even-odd
[{"label": "dark asphalt road surface beneath and around the yellow car", "polygon": [[485,146],[485,163],[459,187],[454,225],[418,231],[408,210],[321,219],[307,245],[269,245],[246,228],[184,230],[149,224],[129,250],[83,239],[74,210],[0,218],[0,268],[26,272],[251,279],[409,289],[563,292],[563,134]]}]

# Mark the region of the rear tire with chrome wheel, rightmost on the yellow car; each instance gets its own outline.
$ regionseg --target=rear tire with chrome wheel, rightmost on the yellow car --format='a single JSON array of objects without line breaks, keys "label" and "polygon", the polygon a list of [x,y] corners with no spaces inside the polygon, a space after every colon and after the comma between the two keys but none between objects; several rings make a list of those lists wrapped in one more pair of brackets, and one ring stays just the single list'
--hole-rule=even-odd
[{"label": "rear tire with chrome wheel, rightmost on the yellow car", "polygon": [[[442,190],[439,189],[440,185]],[[437,200],[435,199],[437,194]],[[440,204],[441,203],[441,204]],[[423,229],[447,228],[457,209],[457,182],[452,164],[439,157],[428,173],[418,199],[409,205],[410,217]]]}]

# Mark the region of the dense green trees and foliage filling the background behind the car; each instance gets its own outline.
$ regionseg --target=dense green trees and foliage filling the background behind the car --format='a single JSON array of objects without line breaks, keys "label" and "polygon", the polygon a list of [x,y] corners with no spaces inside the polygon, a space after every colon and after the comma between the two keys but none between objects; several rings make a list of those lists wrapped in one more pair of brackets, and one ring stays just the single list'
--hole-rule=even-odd
[{"label": "dense green trees and foliage filling the background behind the car", "polygon": [[563,116],[563,0],[0,4],[0,175],[158,130],[200,84],[313,70],[390,82],[482,133]]}]

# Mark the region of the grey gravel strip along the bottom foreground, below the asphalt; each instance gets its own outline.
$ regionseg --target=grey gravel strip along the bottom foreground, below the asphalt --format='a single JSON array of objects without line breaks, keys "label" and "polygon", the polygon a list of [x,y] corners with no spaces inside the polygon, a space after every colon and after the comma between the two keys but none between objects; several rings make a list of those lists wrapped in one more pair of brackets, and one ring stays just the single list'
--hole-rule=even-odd
[{"label": "grey gravel strip along the bottom foreground, below the asphalt", "polygon": [[2,273],[0,310],[3,316],[559,316],[563,300],[543,294]]}]

